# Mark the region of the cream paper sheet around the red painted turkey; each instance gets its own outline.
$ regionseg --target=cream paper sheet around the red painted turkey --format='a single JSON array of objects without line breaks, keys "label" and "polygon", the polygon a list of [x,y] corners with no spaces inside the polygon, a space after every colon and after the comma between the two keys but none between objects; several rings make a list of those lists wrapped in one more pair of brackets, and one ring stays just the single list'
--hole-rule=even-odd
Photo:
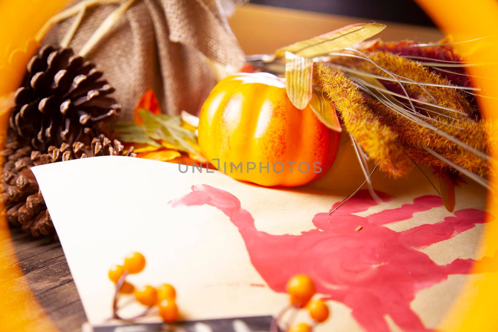
[{"label": "cream paper sheet around the red painted turkey", "polygon": [[[267,250],[261,253],[262,248],[268,245],[263,242],[270,235],[273,236],[271,239],[280,241],[282,236],[297,238],[303,234],[307,236],[309,233],[320,235],[319,232],[326,235],[328,231],[342,229],[344,224],[342,219],[339,219],[341,215],[337,215],[332,224],[324,221],[321,224],[324,229],[321,230],[317,230],[317,226],[312,222],[315,215],[329,212],[334,203],[346,197],[334,194],[333,186],[328,191],[324,190],[326,187],[324,183],[330,179],[339,179],[336,180],[339,188],[340,182],[363,181],[360,178],[349,179],[347,175],[339,176],[348,169],[345,159],[339,158],[336,164],[321,183],[293,190],[263,188],[242,183],[218,171],[206,174],[205,169],[202,173],[197,169],[192,173],[192,168],[189,168],[189,171],[183,174],[179,172],[177,164],[119,156],[71,160],[37,166],[32,168],[32,171],[50,211],[88,320],[91,324],[100,324],[111,316],[114,285],[107,277],[108,270],[112,265],[120,264],[124,256],[132,251],[143,253],[147,265],[142,273],[131,275],[129,280],[137,285],[161,283],[174,285],[183,319],[276,314],[288,303],[288,298],[282,292],[273,291],[268,281],[271,279],[274,283],[278,278],[286,278],[284,275],[288,270],[287,267],[292,269],[300,266],[299,264],[305,264],[302,262],[304,256],[299,256],[305,249],[301,248],[298,242],[290,242],[295,246],[287,245],[285,248],[291,252],[295,250],[296,258],[282,261],[279,250]],[[182,166],[182,170],[184,169],[185,166]],[[352,173],[357,174],[355,171]],[[420,174],[415,174],[412,178],[415,182],[426,184],[425,180],[421,180]],[[392,201],[373,206],[364,212],[353,213],[351,216],[367,217],[386,209],[411,204],[416,197],[434,195],[434,189],[429,185],[420,185],[420,188],[408,187],[401,181],[401,186],[405,186],[404,192],[406,192],[403,194],[399,188],[389,189],[392,181],[386,180],[385,183],[382,190],[396,194]],[[191,193],[193,185],[201,184],[227,191],[240,200],[241,208],[247,210],[254,219],[254,231],[264,235],[260,239],[260,248],[258,239],[243,238],[241,234],[244,231],[239,231],[219,207],[206,204],[173,207],[173,204],[169,204],[170,201]],[[432,199],[432,202],[435,201],[437,199]],[[413,218],[407,217],[405,221],[387,223],[382,229],[402,232],[454,216],[440,205],[416,212]],[[474,186],[469,186],[466,191],[458,193],[456,210],[484,209],[484,205],[483,191],[477,190]],[[347,211],[343,210],[341,213]],[[237,216],[239,215],[235,215],[234,218],[237,219]],[[347,218],[350,217],[344,217],[344,222],[349,222]],[[353,229],[344,233],[341,238],[336,238],[336,242],[342,240],[344,236],[353,240],[358,238],[355,236],[363,239],[361,236],[366,236],[372,231],[367,224],[363,224],[363,227],[358,231]],[[468,227],[468,230],[459,231],[459,234],[455,231],[456,235],[450,239],[437,241],[417,250],[427,254],[439,265],[450,264],[457,258],[480,259],[482,257],[476,249],[480,234],[485,231],[485,227],[486,224],[476,222],[472,227]],[[434,234],[434,231],[431,234]],[[418,238],[423,240],[426,236]],[[367,239],[365,237],[364,255],[370,255],[371,251],[385,246],[381,242],[378,246],[372,246],[367,244]],[[271,278],[267,275],[262,276],[251,262],[250,258],[256,256],[253,252],[249,252],[245,240],[252,241],[252,247],[256,248],[256,251],[259,250],[257,256],[259,264],[266,264],[264,265],[266,270],[271,270],[273,267],[276,267],[277,271],[281,269],[282,277],[279,277],[279,273],[273,273]],[[361,247],[362,241],[356,241],[356,246]],[[349,252],[342,250],[328,255],[329,247],[323,249],[323,257],[317,254],[307,258],[313,261],[313,265],[309,267],[314,269],[312,273],[317,273],[316,278],[318,276],[323,278],[320,280],[321,284],[337,281],[334,279],[337,276],[333,268],[335,262],[333,258],[341,259]],[[264,262],[261,263],[261,260]],[[323,264],[329,264],[328,262],[331,262],[331,269],[325,271]],[[355,261],[342,261],[340,264],[349,264],[348,271],[354,271],[356,268]],[[372,269],[383,268],[382,265],[387,264],[395,263],[390,261],[373,263]],[[359,272],[359,278],[363,278],[368,272]],[[353,273],[352,277],[355,276]],[[388,278],[392,278],[392,283],[395,285],[396,276]],[[425,328],[434,328],[450,308],[464,282],[477,281],[480,278],[482,275],[450,274],[448,278],[443,277],[440,282],[416,291],[415,298],[409,302],[409,306],[400,305],[399,308],[408,309],[407,314],[414,313],[415,319],[419,317]],[[280,281],[282,284],[285,283],[284,280]],[[379,281],[372,283],[378,285]],[[411,286],[413,285],[406,285],[407,288]],[[362,294],[367,294],[360,291],[364,288],[364,286],[354,286],[349,289],[347,295],[356,294],[361,298]],[[389,289],[396,291],[394,286],[386,288]],[[404,292],[404,288],[397,291]],[[345,304],[348,301],[328,301],[332,312],[331,318],[320,325],[317,331],[374,331],[372,325],[367,327],[364,325],[362,328],[358,319],[352,315],[352,308]],[[382,302],[383,297],[379,301]],[[389,301],[387,297],[385,301]],[[141,309],[139,305],[128,306],[123,315],[132,315]],[[365,312],[369,313],[371,309],[373,308],[366,307]],[[375,313],[370,314],[375,315]],[[398,326],[399,319],[395,323],[389,315],[383,315],[381,321],[384,319],[391,331],[402,331]],[[306,321],[309,318],[301,313],[298,320]]]}]

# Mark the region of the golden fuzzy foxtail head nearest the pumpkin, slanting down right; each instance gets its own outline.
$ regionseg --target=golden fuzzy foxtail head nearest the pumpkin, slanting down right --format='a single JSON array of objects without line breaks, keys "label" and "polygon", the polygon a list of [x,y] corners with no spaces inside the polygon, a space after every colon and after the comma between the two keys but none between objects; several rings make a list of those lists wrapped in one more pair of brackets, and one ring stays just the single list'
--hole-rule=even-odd
[{"label": "golden fuzzy foxtail head nearest the pumpkin, slanting down right", "polygon": [[411,161],[398,145],[397,133],[373,112],[373,102],[343,73],[323,64],[315,67],[315,73],[319,88],[332,100],[346,129],[365,153],[393,177],[405,175],[411,169]]}]

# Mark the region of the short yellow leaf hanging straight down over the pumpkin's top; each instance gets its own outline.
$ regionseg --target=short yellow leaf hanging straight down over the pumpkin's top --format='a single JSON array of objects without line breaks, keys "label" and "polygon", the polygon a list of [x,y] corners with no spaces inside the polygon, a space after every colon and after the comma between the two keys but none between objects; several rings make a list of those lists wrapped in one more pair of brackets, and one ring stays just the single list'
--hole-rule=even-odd
[{"label": "short yellow leaf hanging straight down over the pumpkin's top", "polygon": [[299,110],[308,106],[313,94],[313,60],[285,52],[285,87],[287,96]]}]

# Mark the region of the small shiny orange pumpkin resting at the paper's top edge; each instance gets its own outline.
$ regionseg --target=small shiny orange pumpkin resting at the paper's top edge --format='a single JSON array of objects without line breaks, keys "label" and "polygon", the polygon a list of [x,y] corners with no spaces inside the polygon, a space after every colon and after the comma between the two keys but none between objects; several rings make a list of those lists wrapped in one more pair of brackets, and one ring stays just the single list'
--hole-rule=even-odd
[{"label": "small shiny orange pumpkin resting at the paper's top edge", "polygon": [[309,105],[294,107],[282,79],[241,73],[220,81],[205,101],[199,145],[211,164],[237,180],[295,187],[330,168],[339,133]]}]

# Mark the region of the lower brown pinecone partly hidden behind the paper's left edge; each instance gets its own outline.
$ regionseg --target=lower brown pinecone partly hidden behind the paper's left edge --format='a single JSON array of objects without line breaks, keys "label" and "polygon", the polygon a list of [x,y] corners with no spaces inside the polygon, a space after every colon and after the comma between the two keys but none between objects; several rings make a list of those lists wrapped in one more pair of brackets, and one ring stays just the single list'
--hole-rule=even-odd
[{"label": "lower brown pinecone partly hidden behind the paper's left edge", "polygon": [[[48,153],[42,154],[29,145],[20,147],[18,141],[11,140],[0,151],[0,155],[7,158],[1,175],[3,193],[0,200],[5,205],[3,213],[12,225],[30,231],[33,236],[42,236],[53,235],[55,229],[30,168],[71,159],[123,155],[123,145],[101,134],[90,145],[82,142],[72,145],[62,143],[59,148],[50,146]],[[124,155],[136,156],[132,147]]]}]

